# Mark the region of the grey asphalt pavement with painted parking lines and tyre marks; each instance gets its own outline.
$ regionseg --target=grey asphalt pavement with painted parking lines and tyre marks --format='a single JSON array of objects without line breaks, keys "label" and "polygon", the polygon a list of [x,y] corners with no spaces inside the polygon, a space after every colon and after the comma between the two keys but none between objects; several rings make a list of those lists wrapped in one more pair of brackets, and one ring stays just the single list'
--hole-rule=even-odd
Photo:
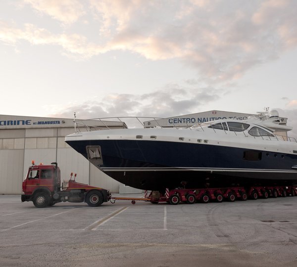
[{"label": "grey asphalt pavement with painted parking lines and tyre marks", "polygon": [[0,241],[1,267],[296,267],[297,197],[38,209],[0,195]]}]

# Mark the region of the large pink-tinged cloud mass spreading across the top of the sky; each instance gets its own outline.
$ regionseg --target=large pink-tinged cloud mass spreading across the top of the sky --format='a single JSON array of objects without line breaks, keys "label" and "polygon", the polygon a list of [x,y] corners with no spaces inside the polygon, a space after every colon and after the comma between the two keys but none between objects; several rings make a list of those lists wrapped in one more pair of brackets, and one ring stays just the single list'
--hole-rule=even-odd
[{"label": "large pink-tinged cloud mass spreading across the top of the sky", "polygon": [[208,84],[236,81],[251,68],[297,46],[295,0],[25,2],[66,24],[88,15],[93,22],[88,34],[99,41],[90,42],[73,29],[51,33],[33,24],[19,28],[4,22],[0,40],[6,44],[17,46],[26,40],[58,45],[75,59],[113,50],[131,51],[148,60],[178,59],[196,69],[198,79]]}]

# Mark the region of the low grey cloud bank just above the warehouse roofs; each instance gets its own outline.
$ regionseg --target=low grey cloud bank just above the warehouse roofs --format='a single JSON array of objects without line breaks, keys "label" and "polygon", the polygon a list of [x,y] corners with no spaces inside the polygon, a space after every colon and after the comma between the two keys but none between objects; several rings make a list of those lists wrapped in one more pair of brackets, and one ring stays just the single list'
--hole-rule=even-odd
[{"label": "low grey cloud bank just above the warehouse roofs", "polygon": [[164,89],[145,94],[109,94],[102,99],[84,103],[69,103],[67,107],[49,106],[55,111],[49,117],[72,118],[77,112],[80,119],[114,116],[169,117],[173,114],[198,112],[199,106],[219,99],[225,93],[215,88],[182,88],[167,85]]}]

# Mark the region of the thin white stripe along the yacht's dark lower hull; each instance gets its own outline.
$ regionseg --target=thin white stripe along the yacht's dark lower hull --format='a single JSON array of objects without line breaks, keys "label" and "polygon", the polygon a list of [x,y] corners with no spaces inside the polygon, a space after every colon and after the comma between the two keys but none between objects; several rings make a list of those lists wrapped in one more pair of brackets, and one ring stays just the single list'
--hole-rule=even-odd
[{"label": "thin white stripe along the yacht's dark lower hull", "polygon": [[297,173],[297,170],[274,170],[274,169],[236,169],[236,168],[100,168],[105,172],[249,172],[249,173]]}]

